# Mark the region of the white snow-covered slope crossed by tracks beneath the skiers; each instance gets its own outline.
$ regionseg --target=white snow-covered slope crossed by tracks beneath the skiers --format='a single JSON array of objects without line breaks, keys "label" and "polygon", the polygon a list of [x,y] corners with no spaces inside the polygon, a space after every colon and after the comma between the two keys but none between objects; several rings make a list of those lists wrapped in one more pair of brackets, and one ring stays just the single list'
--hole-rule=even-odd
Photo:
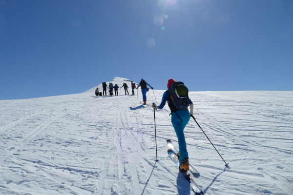
[{"label": "white snow-covered slope crossed by tracks beneath the skiers", "polygon": [[[166,138],[178,146],[167,106],[156,111],[155,162],[151,102],[159,103],[164,90],[150,90],[145,106],[140,90],[138,97],[95,97],[94,90],[0,100],[0,194],[192,195],[167,156]],[[190,98],[231,167],[190,119],[189,159],[205,194],[292,194],[293,92],[190,92]]]}]

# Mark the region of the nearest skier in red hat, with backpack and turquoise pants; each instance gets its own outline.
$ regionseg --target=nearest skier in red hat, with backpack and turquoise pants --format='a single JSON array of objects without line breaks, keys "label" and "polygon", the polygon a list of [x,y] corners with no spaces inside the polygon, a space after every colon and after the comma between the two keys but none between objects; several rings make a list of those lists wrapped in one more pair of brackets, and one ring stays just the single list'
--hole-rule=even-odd
[{"label": "nearest skier in red hat, with backpack and turquoise pants", "polygon": [[[177,154],[180,158],[179,169],[181,172],[186,172],[189,170],[189,162],[183,131],[190,116],[193,114],[193,103],[188,98],[188,89],[183,82],[176,82],[170,78],[167,83],[167,88],[168,90],[164,93],[161,104],[159,106],[153,104],[152,107],[155,109],[163,109],[166,101],[168,102],[172,115],[172,125],[175,129],[179,144],[179,153]],[[188,111],[188,105],[190,105],[190,113]]]}]

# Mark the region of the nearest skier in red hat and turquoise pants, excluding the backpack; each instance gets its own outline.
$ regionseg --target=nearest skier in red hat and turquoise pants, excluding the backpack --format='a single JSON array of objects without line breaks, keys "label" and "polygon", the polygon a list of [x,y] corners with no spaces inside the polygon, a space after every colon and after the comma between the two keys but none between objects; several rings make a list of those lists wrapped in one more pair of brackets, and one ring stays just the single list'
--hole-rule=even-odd
[{"label": "nearest skier in red hat and turquoise pants, excluding the backpack", "polygon": [[[174,83],[175,80],[172,78],[168,80],[167,88],[171,86],[172,83]],[[184,128],[187,125],[190,115],[193,114],[193,103],[191,99],[189,99],[189,105],[190,105],[190,113],[188,109],[186,110],[174,110],[175,106],[170,98],[170,95],[168,93],[168,90],[164,93],[162,102],[159,106],[153,104],[153,108],[155,109],[163,109],[166,101],[168,101],[168,106],[171,110],[171,122],[173,124],[173,127],[175,129],[177,138],[178,138],[178,144],[179,144],[179,151],[180,154],[179,158],[181,160],[180,163],[180,170],[187,171],[189,170],[189,162],[188,162],[188,152],[187,152],[187,147],[186,147],[186,141],[185,141],[185,136],[184,136]]]}]

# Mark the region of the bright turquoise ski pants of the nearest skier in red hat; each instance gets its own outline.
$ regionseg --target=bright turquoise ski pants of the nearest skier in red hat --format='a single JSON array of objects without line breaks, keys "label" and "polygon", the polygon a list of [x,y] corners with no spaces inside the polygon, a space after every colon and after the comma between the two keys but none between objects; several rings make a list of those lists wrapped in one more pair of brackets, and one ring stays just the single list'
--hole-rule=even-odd
[{"label": "bright turquoise ski pants of the nearest skier in red hat", "polygon": [[[176,114],[183,121],[181,121],[180,118],[177,117]],[[177,138],[178,138],[181,160],[185,157],[188,157],[188,152],[187,152],[187,148],[186,148],[186,141],[185,141],[183,130],[184,130],[185,126],[187,125],[189,119],[190,119],[190,114],[189,114],[188,109],[187,110],[177,110],[176,113],[172,112],[171,121],[172,121],[173,127],[175,129]]]}]

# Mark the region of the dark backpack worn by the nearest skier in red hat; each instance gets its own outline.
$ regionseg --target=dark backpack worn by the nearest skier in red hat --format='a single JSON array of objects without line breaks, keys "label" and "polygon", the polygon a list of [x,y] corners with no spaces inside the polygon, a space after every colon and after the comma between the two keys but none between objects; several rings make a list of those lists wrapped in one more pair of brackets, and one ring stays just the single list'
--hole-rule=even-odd
[{"label": "dark backpack worn by the nearest skier in red hat", "polygon": [[183,82],[174,82],[168,89],[170,99],[172,100],[175,110],[186,110],[189,105],[188,88]]}]

